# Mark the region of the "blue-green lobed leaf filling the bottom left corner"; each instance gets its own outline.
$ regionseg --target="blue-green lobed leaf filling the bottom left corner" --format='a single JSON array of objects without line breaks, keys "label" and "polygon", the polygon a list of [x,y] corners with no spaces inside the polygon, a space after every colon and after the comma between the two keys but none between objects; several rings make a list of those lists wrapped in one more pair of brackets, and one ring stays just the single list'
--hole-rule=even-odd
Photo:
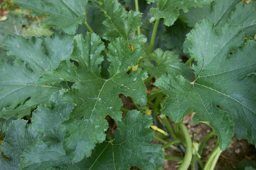
[{"label": "blue-green lobed leaf filling the bottom left corner", "polygon": [[52,94],[49,105],[38,106],[33,112],[31,124],[18,119],[10,125],[2,144],[3,153],[10,160],[0,159],[5,167],[9,165],[18,169],[19,165],[20,170],[46,170],[71,165],[62,147],[64,132],[60,125],[68,119],[73,105],[61,102],[64,91]]}]

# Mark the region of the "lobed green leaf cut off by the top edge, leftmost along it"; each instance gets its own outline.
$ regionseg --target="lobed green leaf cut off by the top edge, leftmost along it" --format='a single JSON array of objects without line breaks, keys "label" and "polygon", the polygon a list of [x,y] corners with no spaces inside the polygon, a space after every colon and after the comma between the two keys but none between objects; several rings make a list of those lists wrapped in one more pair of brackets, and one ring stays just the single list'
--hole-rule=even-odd
[{"label": "lobed green leaf cut off by the top edge, leftmost along it", "polygon": [[14,0],[21,8],[32,9],[33,16],[46,15],[44,24],[75,34],[84,21],[87,0]]}]

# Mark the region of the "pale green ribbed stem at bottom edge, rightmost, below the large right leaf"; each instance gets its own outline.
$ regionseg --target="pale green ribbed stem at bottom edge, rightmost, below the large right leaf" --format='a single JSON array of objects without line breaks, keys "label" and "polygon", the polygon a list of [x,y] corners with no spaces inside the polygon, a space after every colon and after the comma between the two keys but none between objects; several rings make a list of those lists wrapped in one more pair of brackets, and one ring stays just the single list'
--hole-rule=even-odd
[{"label": "pale green ribbed stem at bottom edge, rightmost, below the large right leaf", "polygon": [[205,163],[204,170],[214,170],[214,167],[218,161],[219,156],[221,155],[222,150],[218,147],[215,147],[212,150],[211,155],[207,159],[207,162]]}]

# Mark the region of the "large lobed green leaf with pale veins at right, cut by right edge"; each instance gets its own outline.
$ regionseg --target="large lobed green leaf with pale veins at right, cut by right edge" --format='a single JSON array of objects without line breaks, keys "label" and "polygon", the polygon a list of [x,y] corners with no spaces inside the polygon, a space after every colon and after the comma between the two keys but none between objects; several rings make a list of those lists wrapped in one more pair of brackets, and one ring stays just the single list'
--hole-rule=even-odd
[{"label": "large lobed green leaf with pale veins at right, cut by right edge", "polygon": [[239,26],[225,25],[216,31],[213,25],[202,20],[187,35],[189,54],[197,61],[195,81],[163,76],[155,85],[168,95],[163,114],[179,122],[193,109],[192,121],[211,126],[224,150],[231,142],[234,123],[246,127],[247,138],[256,142],[256,42],[242,45]]}]

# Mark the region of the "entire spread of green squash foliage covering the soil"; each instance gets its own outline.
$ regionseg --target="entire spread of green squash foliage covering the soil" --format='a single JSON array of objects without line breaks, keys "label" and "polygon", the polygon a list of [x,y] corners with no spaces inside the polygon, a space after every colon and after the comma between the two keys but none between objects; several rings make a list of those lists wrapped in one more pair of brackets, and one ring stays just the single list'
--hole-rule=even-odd
[{"label": "entire spread of green squash foliage covering the soil", "polygon": [[[147,105],[153,77],[166,95],[158,114],[178,123],[195,112],[221,150],[233,134],[256,144],[256,2],[240,1],[14,0],[55,34],[0,31],[0,169],[162,167],[151,116],[120,110],[119,94]],[[116,121],[114,139],[106,116]],[[185,157],[190,164],[192,153]]]}]

